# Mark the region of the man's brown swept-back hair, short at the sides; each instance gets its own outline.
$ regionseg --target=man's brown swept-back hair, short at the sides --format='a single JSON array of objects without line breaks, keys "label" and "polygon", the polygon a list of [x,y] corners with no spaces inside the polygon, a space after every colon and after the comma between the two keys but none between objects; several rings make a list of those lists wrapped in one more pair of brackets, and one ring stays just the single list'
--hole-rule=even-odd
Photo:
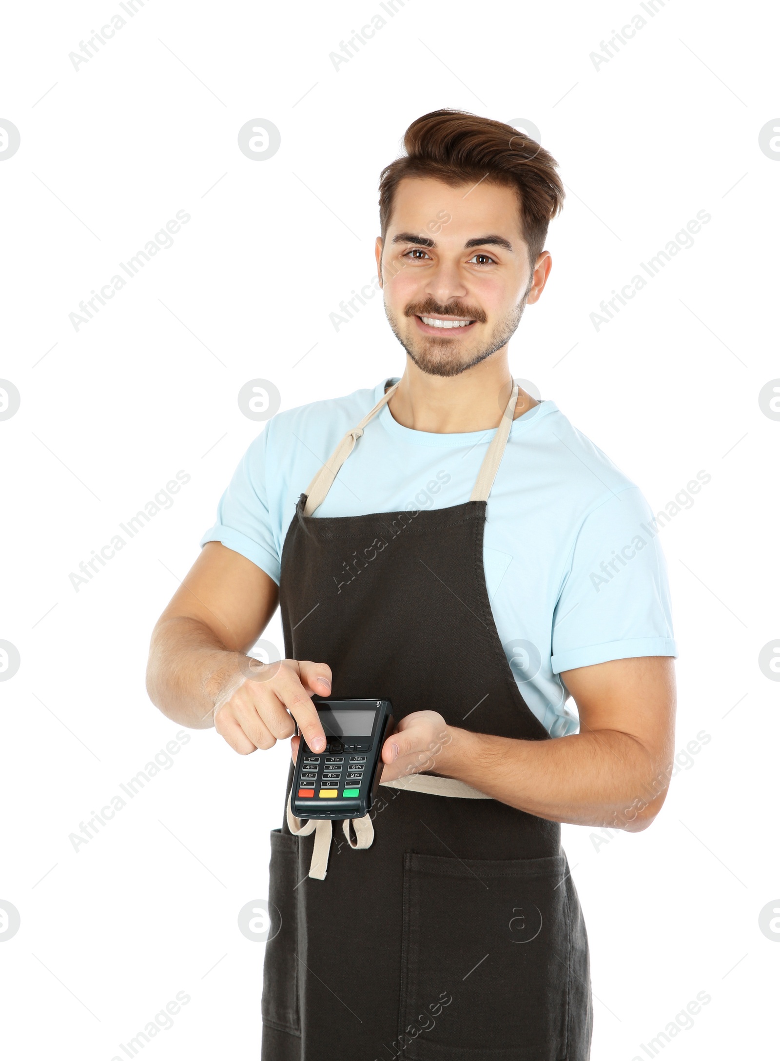
[{"label": "man's brown swept-back hair, short at the sides", "polygon": [[[379,220],[384,239],[393,199],[404,177],[435,177],[457,186],[487,179],[515,188],[531,267],[544,248],[550,221],[560,212],[566,192],[558,163],[536,140],[512,125],[466,110],[433,110],[403,136],[404,155],[379,178]],[[486,176],[487,174],[487,176]]]}]

